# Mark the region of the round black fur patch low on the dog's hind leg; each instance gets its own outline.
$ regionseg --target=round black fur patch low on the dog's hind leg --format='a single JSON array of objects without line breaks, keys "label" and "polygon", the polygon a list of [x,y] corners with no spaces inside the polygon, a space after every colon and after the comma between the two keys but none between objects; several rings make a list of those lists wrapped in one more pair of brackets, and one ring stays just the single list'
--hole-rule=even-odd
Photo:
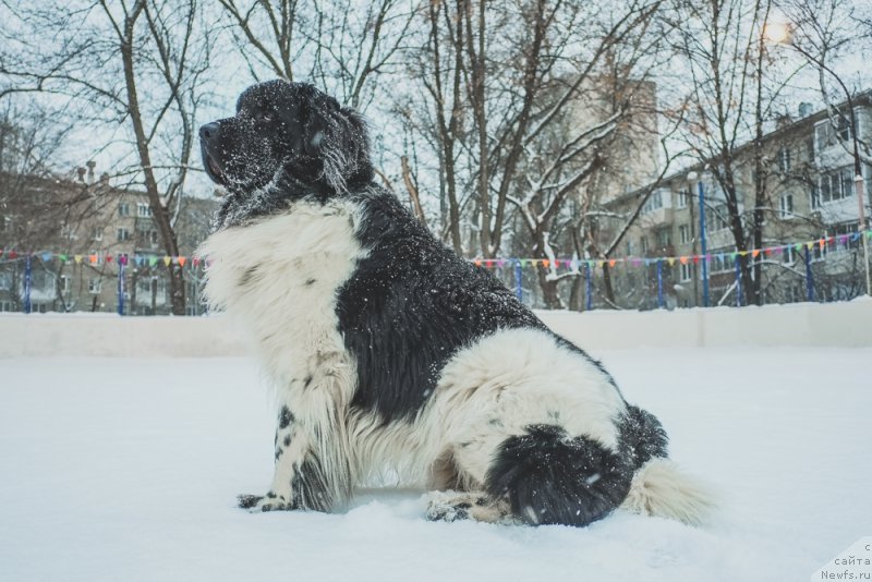
[{"label": "round black fur patch low on the dog's hind leg", "polygon": [[485,486],[528,523],[588,525],[620,506],[634,469],[591,438],[535,425],[502,442]]}]

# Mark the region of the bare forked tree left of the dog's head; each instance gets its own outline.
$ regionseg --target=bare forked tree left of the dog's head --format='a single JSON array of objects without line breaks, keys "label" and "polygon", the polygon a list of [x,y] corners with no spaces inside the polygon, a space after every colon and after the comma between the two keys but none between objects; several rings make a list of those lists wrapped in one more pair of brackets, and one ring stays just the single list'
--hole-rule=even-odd
[{"label": "bare forked tree left of the dog's head", "polygon": [[[135,161],[116,173],[144,187],[165,252],[179,255],[175,222],[213,41],[202,7],[196,0],[46,4],[13,14],[15,43],[0,57],[0,75],[10,82],[0,95],[52,95],[109,135],[123,128],[131,137],[122,159]],[[172,313],[182,315],[182,269],[168,269]]]}]

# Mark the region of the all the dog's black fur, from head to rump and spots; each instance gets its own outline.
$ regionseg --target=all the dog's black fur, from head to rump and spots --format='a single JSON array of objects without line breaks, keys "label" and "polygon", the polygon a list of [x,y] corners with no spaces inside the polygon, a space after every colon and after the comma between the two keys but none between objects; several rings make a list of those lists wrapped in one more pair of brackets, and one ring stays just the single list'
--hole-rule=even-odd
[{"label": "all the dog's black fur, from head to rump and spots", "polygon": [[[338,331],[358,366],[354,412],[374,413],[384,424],[412,420],[455,354],[512,328],[549,334],[615,386],[600,362],[549,331],[491,272],[457,256],[373,181],[365,124],[331,97],[300,83],[256,85],[240,97],[234,117],[201,129],[201,143],[207,173],[228,191],[217,229],[244,227],[301,199],[326,204],[341,198],[356,209],[354,237],[365,258],[336,295]],[[259,278],[258,267],[252,267],[240,284],[256,286]],[[312,376],[294,381],[302,381],[304,390],[313,386]],[[555,424],[532,425],[505,440],[483,484],[493,500],[507,500],[530,523],[585,525],[602,519],[626,498],[639,466],[666,456],[659,422],[635,407],[613,419],[617,452],[592,438],[570,437],[557,425],[560,416],[560,410],[553,410],[548,423]],[[501,426],[502,421],[488,423]],[[278,426],[295,426],[289,409],[281,410]],[[320,427],[312,429],[320,438]],[[326,511],[334,495],[343,495],[337,486],[353,485],[328,483],[314,451],[293,460],[282,456],[281,446],[290,439],[277,433],[276,459],[293,462],[290,498],[275,499],[274,494],[262,504],[264,497],[243,496],[241,507]],[[467,514],[470,507],[456,509]]]}]

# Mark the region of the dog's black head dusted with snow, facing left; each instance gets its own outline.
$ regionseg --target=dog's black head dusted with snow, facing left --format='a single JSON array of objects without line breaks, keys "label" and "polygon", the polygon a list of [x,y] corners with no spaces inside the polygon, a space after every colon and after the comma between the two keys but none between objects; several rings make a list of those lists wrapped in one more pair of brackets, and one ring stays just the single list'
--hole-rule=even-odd
[{"label": "dog's black head dusted with snow, facing left", "polygon": [[237,114],[199,129],[203,166],[228,191],[218,228],[304,196],[322,201],[372,180],[366,126],[305,83],[249,87]]}]

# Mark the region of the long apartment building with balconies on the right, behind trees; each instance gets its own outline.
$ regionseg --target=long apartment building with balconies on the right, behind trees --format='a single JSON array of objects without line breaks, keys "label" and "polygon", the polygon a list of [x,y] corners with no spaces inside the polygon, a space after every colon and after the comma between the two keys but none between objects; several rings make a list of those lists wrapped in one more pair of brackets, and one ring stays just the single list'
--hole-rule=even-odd
[{"label": "long apartment building with balconies on the right, behind trees", "polygon": [[[762,179],[766,181],[767,202],[763,208],[763,244],[754,260],[761,264],[760,288],[765,303],[807,301],[809,291],[815,301],[851,299],[864,292],[864,256],[858,233],[868,227],[861,228],[859,223],[852,150],[855,140],[861,151],[872,141],[872,92],[862,93],[852,101],[856,136],[847,114],[810,111],[803,104],[796,117],[782,118],[777,128],[763,138]],[[847,104],[841,104],[839,110],[847,113]],[[738,169],[739,215],[749,227],[758,180],[752,145],[744,144],[735,150],[734,166]],[[711,304],[737,303],[740,286],[734,256],[736,240],[729,228],[724,191],[710,171],[717,163],[712,159],[693,165],[610,203],[610,208],[626,215],[653,187],[617,257],[674,257],[659,267],[649,260],[647,266],[628,267],[614,275],[614,284],[620,288],[626,306],[657,306],[657,287],[665,294],[667,307],[702,305],[702,264],[692,259],[702,252],[701,210],[705,214],[706,254],[711,256],[706,265]],[[861,168],[869,217],[872,169],[868,163]],[[603,237],[614,235],[617,228],[618,225],[611,228],[606,225]],[[750,228],[744,230],[750,237]],[[822,238],[823,246],[818,242],[811,248],[796,246]],[[746,244],[753,251],[750,240]],[[663,283],[657,281],[656,268],[662,269]]]}]

